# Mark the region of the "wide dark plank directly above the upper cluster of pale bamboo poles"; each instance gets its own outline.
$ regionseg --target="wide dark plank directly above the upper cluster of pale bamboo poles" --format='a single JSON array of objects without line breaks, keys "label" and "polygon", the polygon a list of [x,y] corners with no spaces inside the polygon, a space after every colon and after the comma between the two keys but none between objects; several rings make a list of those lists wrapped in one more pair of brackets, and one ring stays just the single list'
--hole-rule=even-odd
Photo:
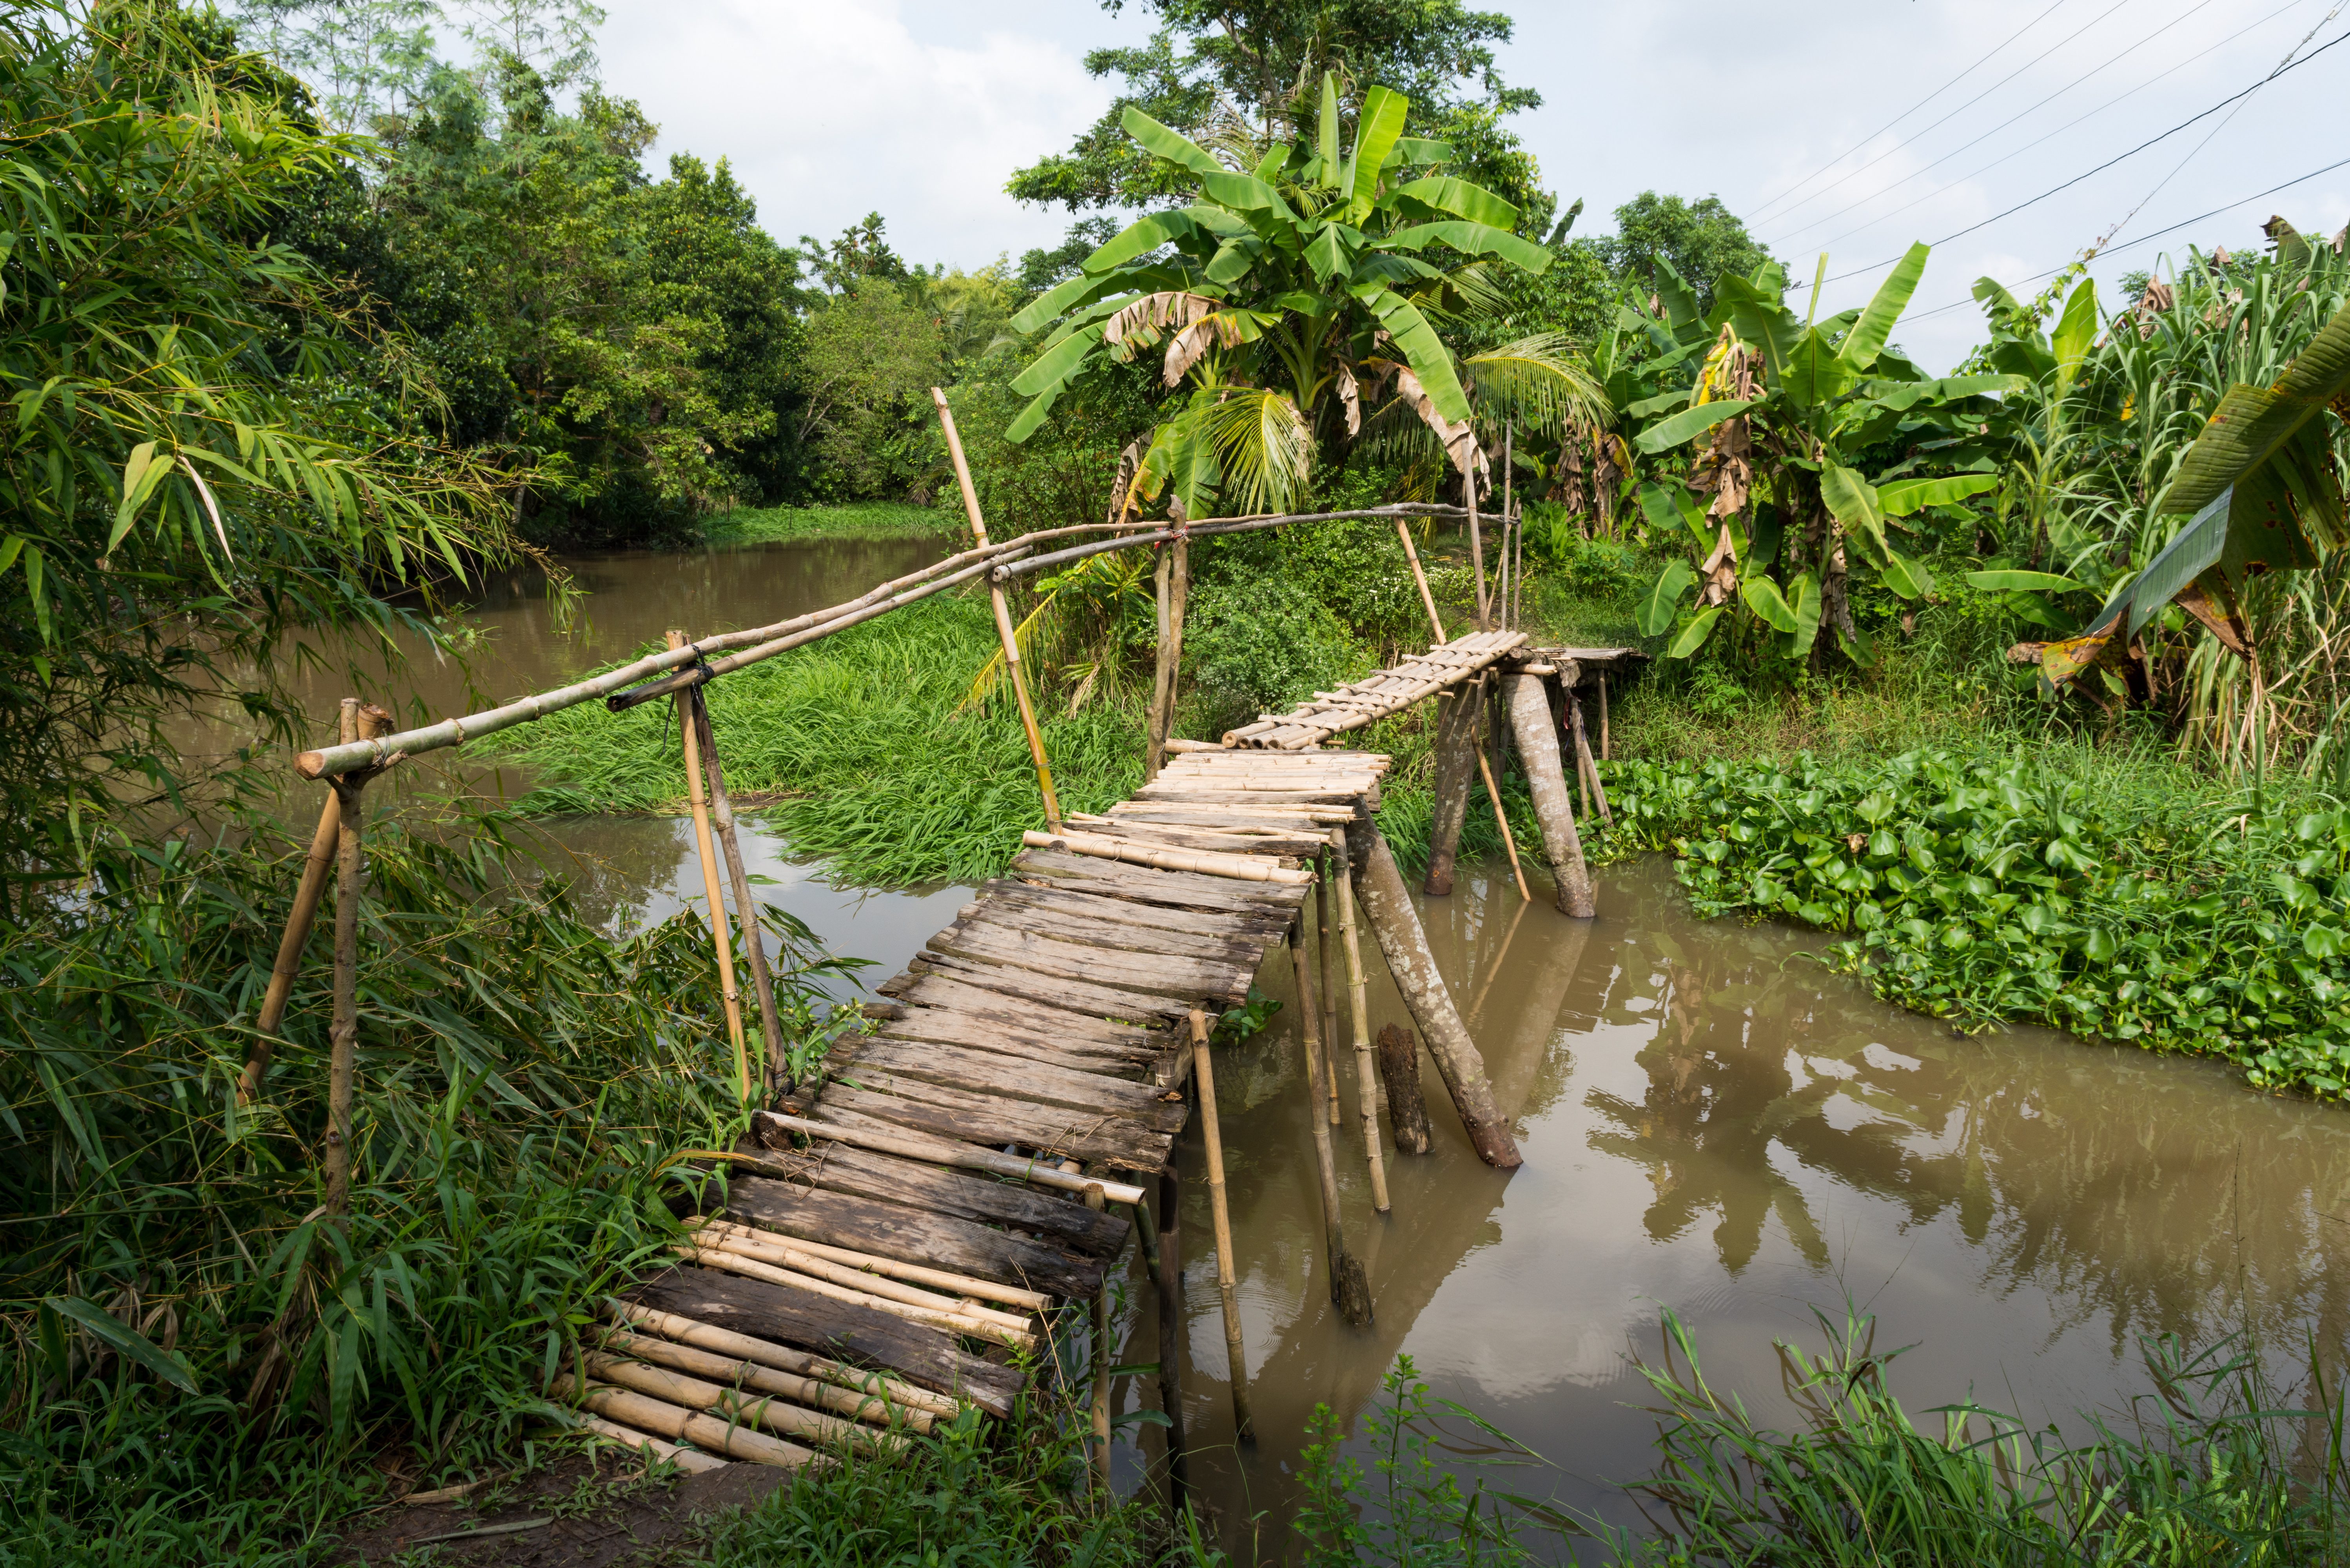
[{"label": "wide dark plank directly above the upper cluster of pale bamboo poles", "polygon": [[738,1175],[726,1187],[726,1213],[804,1241],[830,1241],[877,1258],[926,1262],[975,1274],[1003,1286],[1025,1286],[1060,1298],[1086,1298],[1102,1288],[1102,1258],[1083,1258],[1006,1229],[926,1213],[902,1204],[808,1190],[764,1175]]}]

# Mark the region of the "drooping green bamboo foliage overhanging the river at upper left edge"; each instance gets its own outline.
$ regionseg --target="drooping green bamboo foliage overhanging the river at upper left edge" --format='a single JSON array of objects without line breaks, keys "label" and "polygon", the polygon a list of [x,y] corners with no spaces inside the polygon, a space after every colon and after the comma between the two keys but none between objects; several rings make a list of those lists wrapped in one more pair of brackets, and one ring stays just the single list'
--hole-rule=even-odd
[{"label": "drooping green bamboo foliage overhanging the river at upper left edge", "polygon": [[[0,14],[0,816],[24,856],[179,795],[167,722],[289,722],[296,628],[508,559],[489,477],[418,435],[409,362],[277,223],[360,150],[226,28],[169,5]],[[52,839],[54,842],[47,842]]]}]

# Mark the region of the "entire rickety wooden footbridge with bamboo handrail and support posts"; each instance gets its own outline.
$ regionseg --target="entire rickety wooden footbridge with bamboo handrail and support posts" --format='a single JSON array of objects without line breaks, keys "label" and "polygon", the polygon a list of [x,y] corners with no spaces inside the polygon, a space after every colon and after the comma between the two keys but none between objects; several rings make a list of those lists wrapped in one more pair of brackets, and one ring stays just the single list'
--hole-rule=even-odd
[{"label": "entire rickety wooden footbridge with bamboo handrail and support posts", "polygon": [[[942,409],[945,416],[945,409]],[[1295,976],[1307,1093],[1321,1173],[1330,1295],[1356,1324],[1372,1302],[1347,1246],[1340,1145],[1370,1175],[1384,1213],[1386,1150],[1382,1086],[1398,1152],[1426,1152],[1419,1053],[1368,1030],[1370,926],[1419,1044],[1459,1112],[1478,1157],[1516,1166],[1516,1138],[1495,1105],[1483,1060],[1436,969],[1403,875],[1377,830],[1389,759],[1330,750],[1330,741],[1424,701],[1438,705],[1436,820],[1426,893],[1450,891],[1452,853],[1471,785],[1492,790],[1490,741],[1516,741],[1532,783],[1542,849],[1558,907],[1591,914],[1591,882],[1574,825],[1567,757],[1586,809],[1605,811],[1591,766],[1579,691],[1598,696],[1605,755],[1605,675],[1636,649],[1535,649],[1509,621],[1511,510],[1502,517],[1502,592],[1485,590],[1483,541],[1471,508],[1379,508],[1396,517],[1436,644],[1340,691],[1314,693],[1283,715],[1220,741],[1168,733],[1182,639],[1184,543],[1189,536],[1295,522],[1112,531],[1060,550],[1159,548],[1161,682],[1152,710],[1147,783],[1100,816],[1062,816],[1003,609],[1003,581],[1039,559],[1041,536],[987,543],[968,470],[964,477],[978,550],[886,583],[848,607],[797,623],[686,642],[618,672],[437,726],[385,733],[388,715],[343,703],[343,743],[308,752],[298,769],[334,783],[296,919],[280,950],[261,1037],[275,1032],[282,985],[301,957],[329,863],[336,896],[336,1048],[357,1027],[355,919],[360,898],[360,790],[407,755],[604,698],[630,708],[670,696],[689,771],[689,799],[717,945],[726,1025],[747,1135],[703,1161],[726,1168],[724,1197],[682,1208],[674,1267],[606,1302],[597,1335],[566,1361],[559,1392],[573,1420],[630,1448],[700,1469],[747,1460],[787,1469],[830,1453],[886,1450],[964,1413],[1008,1415],[1032,1378],[1067,1378],[1090,1340],[1095,1476],[1109,1474],[1112,1298],[1126,1248],[1140,1246],[1159,1298],[1159,1408],[1168,1422],[1170,1497],[1182,1495],[1182,1232],[1175,1140],[1198,1112],[1213,1215],[1236,1427],[1250,1436],[1246,1345],[1236,1260],[1224,1204],[1215,1110],[1213,1025],[1246,1001],[1278,947]],[[1459,515],[1478,559],[1483,630],[1445,639],[1405,520]],[[1069,534],[1076,534],[1072,529]],[[1013,691],[1034,748],[1043,825],[1020,856],[978,889],[905,973],[862,1006],[865,1032],[844,1037],[815,1081],[783,1079],[773,983],[757,938],[733,811],[700,686],[726,668],[799,646],[956,581],[989,578]],[[1523,571],[1518,574],[1523,578]],[[712,661],[710,654],[743,649]],[[705,790],[707,785],[707,790]],[[1506,839],[1509,842],[1509,839]],[[1516,863],[1511,842],[1511,860]],[[731,882],[733,931],[719,867]],[[1520,893],[1528,891],[1523,872]],[[745,919],[747,917],[747,919]],[[1361,917],[1361,919],[1358,919]],[[1309,929],[1318,940],[1309,943]],[[740,940],[738,940],[740,938]],[[736,952],[752,971],[759,1063],[736,987]],[[1332,973],[1332,971],[1340,973]],[[1340,994],[1349,1046],[1340,1046]],[[1389,1030],[1386,1034],[1401,1034]],[[1342,1074],[1351,1058],[1354,1072]],[[261,1048],[247,1081],[268,1070]],[[1342,1110],[1351,1077],[1351,1114]],[[1351,1133],[1337,1128],[1351,1121]],[[348,1100],[331,1112],[329,1201],[336,1161],[348,1180]],[[672,1204],[672,1208],[677,1208]],[[1372,1220],[1377,1222],[1377,1220]]]}]

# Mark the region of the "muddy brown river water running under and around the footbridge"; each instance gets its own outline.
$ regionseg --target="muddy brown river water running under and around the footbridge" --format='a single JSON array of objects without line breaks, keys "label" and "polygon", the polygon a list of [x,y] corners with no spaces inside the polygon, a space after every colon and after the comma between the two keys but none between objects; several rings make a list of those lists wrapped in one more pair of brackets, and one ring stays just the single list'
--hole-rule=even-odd
[{"label": "muddy brown river water running under and around the footbridge", "polygon": [[[837,602],[928,559],[924,541],[595,557],[576,569],[588,632],[562,635],[529,583],[472,621],[486,696],[552,684],[658,639]],[[371,698],[454,712],[454,670],[383,670]],[[320,684],[320,705],[345,689]],[[524,780],[475,773],[479,788]],[[682,820],[545,827],[606,922],[663,919],[698,893]],[[837,952],[895,973],[964,889],[844,891],[754,835],[766,896]],[[1786,926],[1697,922],[1668,865],[1600,872],[1600,917],[1570,922],[1537,884],[1492,867],[1422,900],[1525,1166],[1476,1161],[1431,1067],[1436,1147],[1389,1150],[1394,1211],[1370,1213],[1361,1143],[1335,1128],[1347,1229],[1377,1321],[1328,1305],[1295,1009],[1220,1053],[1234,1253],[1260,1441],[1231,1443],[1224,1331],[1198,1133],[1182,1145],[1191,1476],[1248,1549],[1278,1552],[1316,1403],[1349,1422],[1410,1354],[1438,1396],[1473,1408],[1549,1467],[1499,1483],[1633,1521],[1612,1481],[1650,1465],[1633,1356],[1659,1354],[1659,1309],[1694,1331],[1716,1389],[1791,1418],[1774,1340],[1821,1347],[1814,1312],[1878,1316],[1913,1345],[1892,1387],[1913,1410],[1976,1396],[2033,1420],[2115,1410],[2148,1387],[2138,1340],[2251,1331],[2282,1359],[2310,1335],[2350,1342],[2350,1112],[2263,1098],[2211,1063],[2087,1046],[2042,1030],[1962,1037],[1873,1001]],[[1372,1030],[1405,1023],[1368,954]],[[1264,990],[1288,999],[1276,954]],[[1351,1067],[1344,1074],[1351,1105]],[[1126,1361],[1156,1359],[1140,1272]],[[1119,1408],[1156,1403],[1128,1380]],[[1119,1448],[1123,1483],[1159,1439]],[[1368,1455],[1365,1455],[1368,1465]]]}]

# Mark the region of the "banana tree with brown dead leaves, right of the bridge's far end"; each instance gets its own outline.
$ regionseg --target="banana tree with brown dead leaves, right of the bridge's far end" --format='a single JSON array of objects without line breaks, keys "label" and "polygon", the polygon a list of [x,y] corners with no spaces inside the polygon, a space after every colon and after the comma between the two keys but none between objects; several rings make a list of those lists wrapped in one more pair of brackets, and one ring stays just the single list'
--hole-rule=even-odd
[{"label": "banana tree with brown dead leaves, right of the bridge's far end", "polygon": [[[1748,644],[1814,668],[1828,628],[1866,665],[1854,569],[1901,599],[1934,590],[1894,531],[1998,484],[1979,433],[1990,397],[2019,390],[2023,376],[1927,376],[1887,348],[1925,261],[1927,247],[1913,244],[1866,306],[1826,320],[1786,308],[1777,263],[1725,275],[1704,317],[1687,306],[1671,355],[1697,357],[1704,346],[1694,383],[1626,409],[1652,421],[1631,442],[1638,454],[1690,449],[1685,475],[1640,487],[1650,524],[1687,541],[1687,557],[1666,567],[1638,611],[1645,635],[1676,632],[1671,658],[1692,656],[1732,618]],[[1824,277],[1826,256],[1814,310]],[[1915,473],[1927,465],[1943,473]]]}]

